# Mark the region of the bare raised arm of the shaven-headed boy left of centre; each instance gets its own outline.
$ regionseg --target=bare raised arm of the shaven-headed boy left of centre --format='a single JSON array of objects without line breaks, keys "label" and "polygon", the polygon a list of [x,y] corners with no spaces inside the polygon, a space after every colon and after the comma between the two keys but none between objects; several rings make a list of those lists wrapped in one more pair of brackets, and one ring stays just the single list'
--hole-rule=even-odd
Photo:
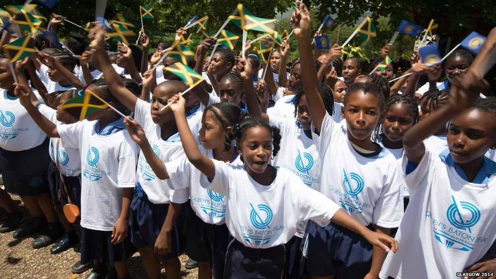
[{"label": "bare raised arm of the shaven-headed boy left of centre", "polygon": [[97,59],[100,61],[100,67],[102,69],[103,76],[107,81],[107,85],[115,98],[117,98],[128,109],[134,111],[138,97],[126,88],[122,82],[122,79],[110,64],[110,59],[104,48],[105,31],[103,30],[100,22],[94,22],[94,24],[95,28],[91,30],[91,33],[94,35],[93,41],[91,41],[91,46],[96,49],[95,55],[97,55]]}]

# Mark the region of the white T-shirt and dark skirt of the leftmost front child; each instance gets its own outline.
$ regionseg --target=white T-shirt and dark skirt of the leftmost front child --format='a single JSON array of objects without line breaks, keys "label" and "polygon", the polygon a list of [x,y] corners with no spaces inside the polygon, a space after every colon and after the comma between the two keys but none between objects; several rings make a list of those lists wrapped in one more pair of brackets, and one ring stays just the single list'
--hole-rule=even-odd
[{"label": "white T-shirt and dark skirt of the leftmost front child", "polygon": [[18,97],[0,89],[0,98],[0,169],[5,191],[20,196],[46,193],[48,139]]}]

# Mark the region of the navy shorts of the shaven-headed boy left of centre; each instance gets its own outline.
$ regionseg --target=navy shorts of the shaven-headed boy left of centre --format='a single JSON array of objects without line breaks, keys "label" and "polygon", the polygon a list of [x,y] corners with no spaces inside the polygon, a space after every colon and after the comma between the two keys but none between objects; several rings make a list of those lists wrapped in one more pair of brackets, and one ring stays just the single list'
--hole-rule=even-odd
[{"label": "navy shorts of the shaven-headed boy left of centre", "polygon": [[[138,249],[151,246],[153,250],[168,210],[169,204],[154,204],[149,201],[141,185],[136,183],[133,200],[129,208],[129,230],[131,242]],[[172,229],[172,253],[167,255],[157,254],[160,259],[172,259],[184,252],[184,219],[184,210],[181,210],[181,214]]]}]

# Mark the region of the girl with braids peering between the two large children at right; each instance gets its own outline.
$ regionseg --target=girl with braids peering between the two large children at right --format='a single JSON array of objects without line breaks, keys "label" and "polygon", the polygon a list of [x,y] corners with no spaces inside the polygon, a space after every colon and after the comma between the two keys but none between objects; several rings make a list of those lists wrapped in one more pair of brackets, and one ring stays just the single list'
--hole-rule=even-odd
[{"label": "girl with braids peering between the two large children at right", "polygon": [[[385,116],[376,128],[378,143],[389,150],[401,164],[403,157],[403,136],[419,119],[417,103],[407,95],[395,94],[384,104]],[[402,179],[401,179],[402,180]],[[402,181],[403,204],[407,208],[410,194]]]}]

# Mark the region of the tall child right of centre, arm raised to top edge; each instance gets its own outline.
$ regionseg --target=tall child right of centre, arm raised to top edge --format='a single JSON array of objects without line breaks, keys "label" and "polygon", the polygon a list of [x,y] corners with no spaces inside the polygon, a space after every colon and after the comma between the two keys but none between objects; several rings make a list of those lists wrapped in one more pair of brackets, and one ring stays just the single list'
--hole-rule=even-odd
[{"label": "tall child right of centre, arm raised to top edge", "polygon": [[[345,121],[331,119],[319,96],[312,64],[310,14],[303,3],[296,4],[291,20],[312,116],[312,138],[322,160],[321,192],[361,224],[389,234],[403,213],[399,170],[394,156],[370,140],[383,115],[384,95],[374,84],[353,84],[342,109]],[[337,45],[333,48],[340,49]],[[302,266],[306,264],[313,276],[376,277],[385,257],[384,251],[371,247],[362,236],[335,224],[323,228],[309,221],[303,241]]]}]

